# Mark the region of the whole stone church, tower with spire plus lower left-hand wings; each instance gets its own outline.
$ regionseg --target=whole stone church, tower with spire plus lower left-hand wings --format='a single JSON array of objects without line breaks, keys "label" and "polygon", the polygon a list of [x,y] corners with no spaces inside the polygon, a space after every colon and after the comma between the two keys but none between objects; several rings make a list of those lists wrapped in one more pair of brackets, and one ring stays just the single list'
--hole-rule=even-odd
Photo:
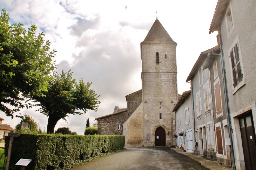
[{"label": "whole stone church, tower with spire plus lower left-hand wings", "polygon": [[100,135],[123,134],[127,147],[176,144],[176,46],[156,19],[141,42],[142,89],[126,96],[126,110],[116,107],[113,114],[96,118]]}]

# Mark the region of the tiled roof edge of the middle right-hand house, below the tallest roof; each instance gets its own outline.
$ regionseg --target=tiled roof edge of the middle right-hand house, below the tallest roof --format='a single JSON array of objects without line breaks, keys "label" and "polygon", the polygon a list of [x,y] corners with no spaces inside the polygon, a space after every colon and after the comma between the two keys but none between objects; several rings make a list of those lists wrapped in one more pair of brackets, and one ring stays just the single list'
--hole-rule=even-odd
[{"label": "tiled roof edge of the middle right-hand house, below the tallest roof", "polygon": [[186,82],[188,82],[188,81],[190,81],[190,80],[193,79],[193,77],[194,77],[195,74],[197,73],[199,67],[201,67],[203,61],[207,58],[208,53],[211,52],[211,51],[216,52],[216,51],[218,51],[218,50],[220,50],[219,46],[215,46],[215,47],[213,47],[213,48],[210,48],[210,49],[208,49],[208,50],[202,52],[202,53],[199,55],[199,57],[198,57],[196,63],[194,64],[194,66],[193,66],[191,72],[189,73]]}]

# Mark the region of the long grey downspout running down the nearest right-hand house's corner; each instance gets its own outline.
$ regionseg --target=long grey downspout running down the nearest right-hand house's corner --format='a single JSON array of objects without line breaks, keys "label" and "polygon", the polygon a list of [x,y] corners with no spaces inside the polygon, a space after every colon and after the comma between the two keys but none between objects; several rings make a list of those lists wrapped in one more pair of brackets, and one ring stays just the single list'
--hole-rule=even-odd
[{"label": "long grey downspout running down the nearest right-hand house's corner", "polygon": [[[221,31],[218,30],[219,35],[221,36]],[[224,86],[224,101],[225,101],[225,107],[226,107],[226,114],[227,114],[227,122],[228,122],[228,133],[230,138],[230,149],[231,149],[231,161],[232,161],[232,168],[233,170],[236,170],[236,164],[235,164],[235,155],[234,155],[234,148],[233,148],[233,140],[231,136],[231,124],[230,124],[230,113],[229,113],[229,105],[228,105],[228,94],[227,94],[227,82],[226,82],[226,75],[225,75],[225,66],[224,66],[224,57],[223,57],[223,51],[222,51],[222,36],[221,36],[221,43],[220,43],[220,54],[212,53],[213,55],[219,55],[221,58],[221,69],[222,69],[222,81]]]}]

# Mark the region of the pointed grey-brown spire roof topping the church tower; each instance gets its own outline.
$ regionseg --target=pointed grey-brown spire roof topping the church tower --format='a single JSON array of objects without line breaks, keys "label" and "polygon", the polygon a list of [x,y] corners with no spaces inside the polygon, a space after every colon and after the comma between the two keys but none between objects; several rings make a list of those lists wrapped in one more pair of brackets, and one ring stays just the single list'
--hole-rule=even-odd
[{"label": "pointed grey-brown spire roof topping the church tower", "polygon": [[157,18],[141,43],[176,44]]}]

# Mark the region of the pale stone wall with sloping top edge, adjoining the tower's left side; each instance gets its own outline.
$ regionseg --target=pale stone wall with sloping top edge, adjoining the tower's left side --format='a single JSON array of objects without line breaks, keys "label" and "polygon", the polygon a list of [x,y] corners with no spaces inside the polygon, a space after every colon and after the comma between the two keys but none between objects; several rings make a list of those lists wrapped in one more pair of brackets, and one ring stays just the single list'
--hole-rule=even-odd
[{"label": "pale stone wall with sloping top edge, adjoining the tower's left side", "polygon": [[143,142],[143,104],[123,123],[125,147],[140,147]]}]

